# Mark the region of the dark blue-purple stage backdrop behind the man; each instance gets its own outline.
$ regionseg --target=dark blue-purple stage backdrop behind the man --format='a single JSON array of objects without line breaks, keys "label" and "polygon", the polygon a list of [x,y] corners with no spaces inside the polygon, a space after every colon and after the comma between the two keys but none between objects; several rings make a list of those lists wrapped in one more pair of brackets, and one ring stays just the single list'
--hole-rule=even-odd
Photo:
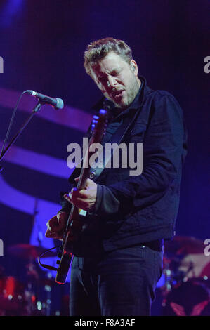
[{"label": "dark blue-purple stage backdrop behind the man", "polygon": [[[150,88],[169,91],[183,108],[188,157],[183,169],[177,235],[209,238],[210,74],[204,72],[204,58],[210,55],[208,11],[208,0],[1,0],[0,55],[4,58],[4,73],[0,74],[0,140],[4,140],[22,91],[33,89],[63,98],[67,108],[52,114],[53,108],[43,107],[15,146],[65,162],[67,145],[81,140],[89,124],[86,118],[91,119],[84,114],[91,115],[91,105],[100,98],[100,91],[84,72],[86,46],[103,37],[123,39],[131,46],[139,72]],[[80,117],[75,109],[81,110]],[[18,110],[11,136],[30,110],[31,107],[28,111]],[[66,120],[62,112],[67,111],[68,118],[74,117],[76,124]],[[55,120],[48,119],[48,113]],[[63,119],[58,124],[59,116]],[[13,244],[34,244],[38,236],[44,235],[45,223],[59,202],[58,192],[67,189],[64,177],[32,168],[30,157],[26,159],[17,164],[8,152],[1,172],[4,188],[0,187],[0,238],[4,241],[0,263],[6,275],[24,281],[26,260],[12,256],[8,248]],[[6,190],[8,186],[14,194]],[[24,199],[18,192],[24,194]],[[47,204],[48,218],[44,218],[40,202],[37,223],[41,229],[34,234],[33,203],[27,206],[27,196],[34,204],[37,200],[38,204],[53,203],[53,209]],[[41,237],[41,245],[47,247],[49,243]],[[66,288],[57,288],[56,294],[60,297]]]}]

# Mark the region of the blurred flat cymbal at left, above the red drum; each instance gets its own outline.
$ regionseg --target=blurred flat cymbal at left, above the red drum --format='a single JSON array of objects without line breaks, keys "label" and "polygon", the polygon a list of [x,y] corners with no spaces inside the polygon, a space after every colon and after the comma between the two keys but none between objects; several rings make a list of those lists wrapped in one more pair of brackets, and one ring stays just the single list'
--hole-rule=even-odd
[{"label": "blurred flat cymbal at left, above the red drum", "polygon": [[[36,259],[41,253],[48,251],[48,249],[42,246],[34,246],[31,244],[16,244],[8,248],[8,252],[13,256],[17,256],[23,259]],[[48,251],[41,258],[48,258],[56,256],[55,252]]]}]

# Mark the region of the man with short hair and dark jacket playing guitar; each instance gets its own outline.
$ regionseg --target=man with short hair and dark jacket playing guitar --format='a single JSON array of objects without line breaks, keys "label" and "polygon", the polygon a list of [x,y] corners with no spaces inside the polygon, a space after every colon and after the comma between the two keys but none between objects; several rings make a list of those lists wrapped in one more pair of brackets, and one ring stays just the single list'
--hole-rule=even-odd
[{"label": "man with short hair and dark jacket playing guitar", "polygon": [[[102,144],[133,144],[134,153],[142,144],[136,161],[143,161],[143,169],[131,175],[129,166],[119,164],[96,178],[93,173],[82,189],[64,194],[46,237],[62,238],[72,205],[87,212],[73,244],[70,315],[150,315],[164,239],[173,237],[178,213],[186,155],[183,112],[171,93],[147,86],[122,40],[93,41],[84,67],[103,93],[98,110],[107,106],[111,114]],[[70,183],[78,177],[74,172]]]}]

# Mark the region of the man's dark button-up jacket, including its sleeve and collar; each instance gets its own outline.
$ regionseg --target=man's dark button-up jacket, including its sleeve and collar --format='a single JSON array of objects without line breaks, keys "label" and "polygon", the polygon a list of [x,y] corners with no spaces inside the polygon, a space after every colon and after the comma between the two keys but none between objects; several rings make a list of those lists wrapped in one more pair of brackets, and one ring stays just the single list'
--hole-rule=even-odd
[{"label": "man's dark button-up jacket, including its sleeve and collar", "polygon": [[[112,251],[174,235],[187,153],[183,112],[173,95],[152,91],[143,77],[140,80],[138,102],[122,114],[122,120],[136,111],[138,117],[122,142],[143,143],[143,172],[130,176],[129,168],[103,170],[94,215],[87,217],[80,246],[96,243]],[[70,211],[65,200],[62,210]]]}]

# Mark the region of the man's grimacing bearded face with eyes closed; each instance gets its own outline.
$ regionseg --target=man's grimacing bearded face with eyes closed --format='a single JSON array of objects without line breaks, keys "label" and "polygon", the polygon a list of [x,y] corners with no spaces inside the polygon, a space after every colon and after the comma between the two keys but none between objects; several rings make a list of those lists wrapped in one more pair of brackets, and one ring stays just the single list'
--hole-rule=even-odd
[{"label": "man's grimacing bearded face with eyes closed", "polygon": [[105,98],[122,110],[131,105],[140,87],[136,62],[125,62],[114,52],[92,67],[92,77]]}]

